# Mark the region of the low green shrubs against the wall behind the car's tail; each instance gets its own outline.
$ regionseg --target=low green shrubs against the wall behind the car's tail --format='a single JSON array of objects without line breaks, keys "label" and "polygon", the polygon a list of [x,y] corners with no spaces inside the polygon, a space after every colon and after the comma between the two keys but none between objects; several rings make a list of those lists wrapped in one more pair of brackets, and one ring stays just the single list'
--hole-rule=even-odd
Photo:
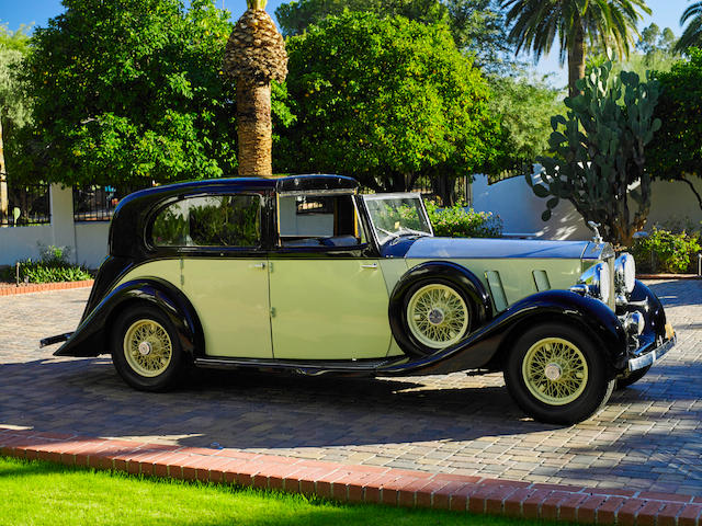
[{"label": "low green shrubs against the wall behind the car's tail", "polygon": [[[39,251],[39,260],[20,261],[20,281],[25,283],[80,282],[92,279],[84,266],[68,262],[69,251],[61,247],[44,247]],[[8,268],[3,278],[13,281],[14,268]]]}]

